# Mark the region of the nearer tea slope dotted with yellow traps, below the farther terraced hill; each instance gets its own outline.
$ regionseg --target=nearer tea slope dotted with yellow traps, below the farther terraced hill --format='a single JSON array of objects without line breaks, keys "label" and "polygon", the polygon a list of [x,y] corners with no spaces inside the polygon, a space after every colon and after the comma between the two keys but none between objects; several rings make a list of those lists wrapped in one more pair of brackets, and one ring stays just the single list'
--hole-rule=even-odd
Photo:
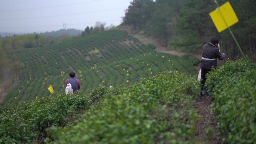
[{"label": "nearer tea slope dotted with yellow traps, below the farther terraced hill", "polygon": [[[94,88],[98,85],[133,85],[137,81],[137,78],[152,76],[171,69],[188,75],[194,75],[196,73],[192,64],[183,58],[167,53],[146,53],[83,71],[77,70],[76,77],[80,80],[81,90],[85,91],[88,88]],[[50,95],[47,89],[50,85],[53,86],[54,92],[64,91],[63,85],[68,77],[68,73],[64,74],[59,71],[58,75],[31,79],[28,82],[21,81],[22,83],[17,84],[15,92],[10,92],[3,103],[14,103],[22,99],[32,100],[36,96],[43,97]],[[15,96],[17,99],[14,99]]]}]

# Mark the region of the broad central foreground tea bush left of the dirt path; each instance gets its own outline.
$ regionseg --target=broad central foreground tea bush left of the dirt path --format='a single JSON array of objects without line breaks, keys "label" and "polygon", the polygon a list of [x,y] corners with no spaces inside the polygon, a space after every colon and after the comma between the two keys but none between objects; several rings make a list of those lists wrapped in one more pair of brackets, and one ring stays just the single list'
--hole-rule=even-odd
[{"label": "broad central foreground tea bush left of the dirt path", "polygon": [[109,95],[76,122],[50,129],[53,144],[195,144],[195,77],[166,71]]}]

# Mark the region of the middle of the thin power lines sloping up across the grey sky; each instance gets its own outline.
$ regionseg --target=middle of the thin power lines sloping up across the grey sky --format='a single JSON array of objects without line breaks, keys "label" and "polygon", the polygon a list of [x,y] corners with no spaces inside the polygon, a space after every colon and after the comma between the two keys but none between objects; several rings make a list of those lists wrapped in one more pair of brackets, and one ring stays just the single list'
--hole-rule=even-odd
[{"label": "middle of the thin power lines sloping up across the grey sky", "polygon": [[21,19],[37,19],[37,18],[52,18],[52,17],[69,16],[69,15],[81,15],[81,14],[94,13],[94,12],[106,12],[106,11],[118,10],[118,9],[124,9],[124,8],[126,8],[126,7],[119,7],[119,8],[115,8],[115,9],[106,9],[106,10],[96,10],[96,11],[82,12],[82,13],[70,13],[70,14],[65,14],[65,15],[40,16],[40,17],[30,17],[30,18],[9,18],[9,19],[0,19],[0,21],[21,20]]}]

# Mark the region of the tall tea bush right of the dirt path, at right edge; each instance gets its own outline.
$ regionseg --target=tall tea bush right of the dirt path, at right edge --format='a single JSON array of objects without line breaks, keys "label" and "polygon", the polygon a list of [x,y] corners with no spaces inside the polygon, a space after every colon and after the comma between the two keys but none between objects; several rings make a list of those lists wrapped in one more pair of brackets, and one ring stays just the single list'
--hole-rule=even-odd
[{"label": "tall tea bush right of the dirt path, at right edge", "polygon": [[240,59],[227,62],[207,75],[206,85],[215,101],[223,142],[253,144],[256,141],[256,64]]}]

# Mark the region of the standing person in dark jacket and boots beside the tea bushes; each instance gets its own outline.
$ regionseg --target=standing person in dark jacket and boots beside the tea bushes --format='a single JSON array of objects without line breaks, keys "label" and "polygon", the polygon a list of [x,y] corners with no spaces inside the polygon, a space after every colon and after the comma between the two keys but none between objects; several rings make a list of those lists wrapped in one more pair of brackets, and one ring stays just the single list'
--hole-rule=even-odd
[{"label": "standing person in dark jacket and boots beside the tea bushes", "polygon": [[[199,92],[199,96],[202,95],[202,90],[205,87],[205,81],[206,81],[206,74],[211,71],[213,68],[217,68],[217,58],[220,60],[223,60],[226,57],[225,53],[220,53],[219,48],[217,45],[219,44],[219,38],[212,37],[211,42],[204,45],[202,50],[202,59],[201,59],[201,69],[198,74],[198,80],[201,80],[201,91]],[[208,96],[208,90],[205,87],[206,94],[205,96]]]}]

